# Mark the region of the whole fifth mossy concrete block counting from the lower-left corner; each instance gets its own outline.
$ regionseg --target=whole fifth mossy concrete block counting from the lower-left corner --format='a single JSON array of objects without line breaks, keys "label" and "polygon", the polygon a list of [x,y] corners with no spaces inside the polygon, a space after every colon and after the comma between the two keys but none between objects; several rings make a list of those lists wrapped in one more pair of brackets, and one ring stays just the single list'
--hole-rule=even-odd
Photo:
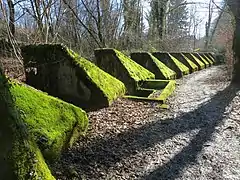
[{"label": "whole fifth mossy concrete block counting from the lower-left corner", "polygon": [[151,53],[136,52],[131,54],[131,59],[155,74],[156,79],[176,79],[176,73],[159,61]]}]

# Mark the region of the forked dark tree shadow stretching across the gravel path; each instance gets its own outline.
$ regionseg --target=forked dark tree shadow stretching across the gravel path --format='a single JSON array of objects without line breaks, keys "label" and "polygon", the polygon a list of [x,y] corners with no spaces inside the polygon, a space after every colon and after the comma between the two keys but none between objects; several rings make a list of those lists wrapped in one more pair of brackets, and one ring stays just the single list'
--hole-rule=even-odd
[{"label": "forked dark tree shadow stretching across the gravel path", "polygon": [[211,140],[215,127],[226,116],[226,106],[236,96],[238,89],[235,86],[228,86],[213,96],[211,100],[199,106],[198,109],[175,119],[159,120],[139,129],[120,133],[116,137],[97,139],[87,147],[67,152],[61,161],[65,165],[73,165],[78,173],[85,174],[87,179],[98,178],[100,175],[96,171],[96,167],[107,171],[124,158],[153,147],[179,133],[200,129],[189,145],[167,164],[143,177],[143,179],[175,179],[186,165],[196,161],[204,143]]}]

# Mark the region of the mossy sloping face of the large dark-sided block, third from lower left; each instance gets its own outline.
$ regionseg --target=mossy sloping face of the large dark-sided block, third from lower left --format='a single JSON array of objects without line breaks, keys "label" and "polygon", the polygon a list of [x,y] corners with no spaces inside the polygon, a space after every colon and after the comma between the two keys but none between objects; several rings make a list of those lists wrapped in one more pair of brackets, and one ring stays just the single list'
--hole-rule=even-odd
[{"label": "mossy sloping face of the large dark-sided block, third from lower left", "polygon": [[80,57],[70,49],[66,49],[69,55],[74,59],[75,63],[84,69],[91,82],[95,83],[101,89],[109,104],[116,98],[123,96],[126,92],[125,85],[115,77],[104,72],[90,61]]}]

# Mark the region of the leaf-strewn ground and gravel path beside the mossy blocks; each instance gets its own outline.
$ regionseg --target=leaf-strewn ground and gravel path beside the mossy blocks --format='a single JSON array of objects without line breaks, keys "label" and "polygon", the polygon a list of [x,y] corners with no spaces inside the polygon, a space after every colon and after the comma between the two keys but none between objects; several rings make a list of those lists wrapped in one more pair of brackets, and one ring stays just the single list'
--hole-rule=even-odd
[{"label": "leaf-strewn ground and gravel path beside the mossy blocks", "polygon": [[177,80],[169,109],[119,99],[89,113],[57,179],[240,179],[240,88],[224,66]]}]

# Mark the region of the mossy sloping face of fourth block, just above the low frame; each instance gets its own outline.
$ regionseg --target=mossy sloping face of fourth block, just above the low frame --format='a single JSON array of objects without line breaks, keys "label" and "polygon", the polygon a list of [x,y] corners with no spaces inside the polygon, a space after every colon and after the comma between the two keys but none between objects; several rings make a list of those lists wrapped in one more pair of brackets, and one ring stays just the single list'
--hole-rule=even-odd
[{"label": "mossy sloping face of fourth block, just above the low frame", "polygon": [[118,59],[121,61],[123,66],[128,71],[129,75],[131,76],[131,78],[135,80],[135,82],[155,78],[155,75],[152,72],[148,71],[146,68],[137,64],[132,59],[127,57],[125,54],[117,50],[114,50],[114,51]]}]

